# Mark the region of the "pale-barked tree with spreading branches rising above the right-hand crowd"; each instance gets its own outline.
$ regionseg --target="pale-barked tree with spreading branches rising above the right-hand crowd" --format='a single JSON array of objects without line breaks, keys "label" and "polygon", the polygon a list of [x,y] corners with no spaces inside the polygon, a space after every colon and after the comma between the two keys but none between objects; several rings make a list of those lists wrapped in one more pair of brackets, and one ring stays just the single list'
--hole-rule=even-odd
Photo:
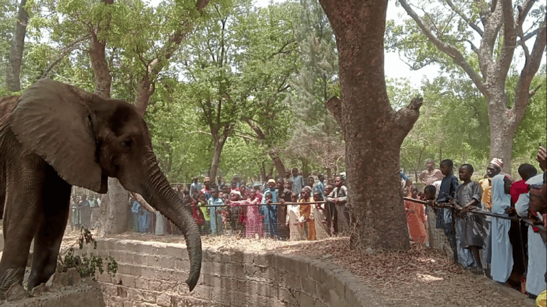
[{"label": "pale-barked tree with spreading branches rising above the right-hand crowd", "polygon": [[[417,27],[408,23],[405,27],[395,27],[395,33],[408,33],[395,44],[415,58],[415,68],[437,62],[444,66],[458,65],[466,72],[486,97],[491,127],[489,158],[501,158],[504,171],[509,173],[516,130],[529,99],[538,90],[538,87],[531,88],[531,82],[538,72],[547,41],[545,5],[533,9],[535,0],[519,1],[516,7],[511,0],[447,0],[439,1],[439,5],[431,9],[434,13],[420,16],[407,0],[399,0],[399,3]],[[425,11],[426,4],[429,1],[420,3],[420,11]],[[525,30],[528,23],[530,28]],[[479,38],[478,44],[474,37]],[[536,40],[530,49],[526,42],[532,38]],[[417,44],[424,40],[428,42]],[[466,43],[470,52],[465,48]],[[432,48],[440,53],[432,52]],[[508,74],[519,48],[524,55],[524,65],[519,82],[510,90]],[[474,63],[478,63],[478,69]],[[514,92],[511,99],[509,91]]]}]

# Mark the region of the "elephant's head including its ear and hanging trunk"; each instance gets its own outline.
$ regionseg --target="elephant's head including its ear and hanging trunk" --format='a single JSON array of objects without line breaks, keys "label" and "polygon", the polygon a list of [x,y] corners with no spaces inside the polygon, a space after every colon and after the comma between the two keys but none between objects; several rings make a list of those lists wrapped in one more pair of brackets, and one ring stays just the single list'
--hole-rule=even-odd
[{"label": "elephant's head including its ear and hanging trunk", "polygon": [[9,118],[16,139],[71,185],[106,193],[108,177],[142,195],[183,232],[191,262],[190,291],[199,279],[202,242],[192,213],[160,171],[147,125],[135,107],[53,80],[19,99]]}]

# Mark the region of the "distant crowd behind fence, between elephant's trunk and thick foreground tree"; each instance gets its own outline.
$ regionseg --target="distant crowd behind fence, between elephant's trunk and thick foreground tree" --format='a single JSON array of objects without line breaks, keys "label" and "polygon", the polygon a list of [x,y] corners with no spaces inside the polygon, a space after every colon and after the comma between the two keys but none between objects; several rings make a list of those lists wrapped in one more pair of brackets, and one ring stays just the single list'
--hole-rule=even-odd
[{"label": "distant crowd behind fence, between elephant's trunk and thick foreground tree", "polygon": [[[348,190],[343,176],[332,181],[318,174],[304,180],[298,168],[287,170],[284,177],[268,178],[266,183],[248,185],[234,176],[229,185],[222,178],[211,181],[204,177],[199,183],[192,178],[189,186],[177,185],[174,190],[192,208],[202,235],[241,235],[283,240],[323,239],[347,232],[350,214],[346,206]],[[130,201],[133,230],[158,235],[157,221],[169,224],[159,212],[155,217],[142,207],[142,202]],[[174,226],[172,226],[174,227]],[[155,228],[155,230],[153,230]],[[161,227],[160,227],[161,228]],[[176,227],[175,227],[176,228]],[[165,231],[165,227],[163,228]]]}]

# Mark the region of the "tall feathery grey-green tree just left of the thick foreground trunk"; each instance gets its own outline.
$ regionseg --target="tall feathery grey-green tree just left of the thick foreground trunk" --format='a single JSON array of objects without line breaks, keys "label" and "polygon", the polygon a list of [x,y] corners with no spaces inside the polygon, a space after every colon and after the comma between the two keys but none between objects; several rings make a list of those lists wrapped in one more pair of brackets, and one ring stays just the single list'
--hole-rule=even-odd
[{"label": "tall feathery grey-green tree just left of the thick foreground trunk", "polygon": [[[302,0],[300,23],[296,27],[302,65],[293,77],[288,103],[295,114],[293,137],[288,151],[298,160],[316,162],[330,178],[338,173],[344,144],[340,128],[325,104],[338,82],[338,54],[333,29],[317,0]],[[303,163],[304,164],[304,163]]]}]

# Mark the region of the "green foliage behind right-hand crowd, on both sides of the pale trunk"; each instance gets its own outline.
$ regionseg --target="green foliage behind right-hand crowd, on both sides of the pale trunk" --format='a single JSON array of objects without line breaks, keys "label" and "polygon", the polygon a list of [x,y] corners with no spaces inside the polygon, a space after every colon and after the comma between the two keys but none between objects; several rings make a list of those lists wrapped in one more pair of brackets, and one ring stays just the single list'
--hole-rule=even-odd
[{"label": "green foliage behind right-hand crowd, on both sides of the pale trunk", "polygon": [[[545,70],[542,71],[532,82],[534,88],[546,82]],[[515,75],[509,82],[518,82],[518,78]],[[456,165],[470,163],[477,170],[485,169],[489,158],[490,126],[484,96],[457,70],[449,77],[440,76],[424,82],[420,91],[424,95],[424,105],[402,143],[402,167],[419,172],[425,168],[424,162],[428,158],[434,158],[437,163],[450,158]],[[387,93],[395,108],[410,102],[417,92],[410,87],[409,80],[387,80]],[[546,89],[542,86],[528,103],[514,138],[515,166],[533,163],[538,143],[546,144],[546,99]]]}]

